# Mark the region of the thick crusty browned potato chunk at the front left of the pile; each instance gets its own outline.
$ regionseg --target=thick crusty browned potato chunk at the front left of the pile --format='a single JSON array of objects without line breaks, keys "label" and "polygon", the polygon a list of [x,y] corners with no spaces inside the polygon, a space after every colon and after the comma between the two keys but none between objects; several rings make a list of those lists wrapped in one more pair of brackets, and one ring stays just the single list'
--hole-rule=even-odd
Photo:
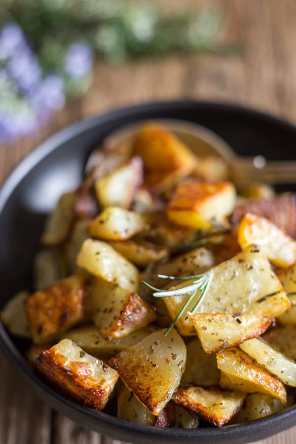
[{"label": "thick crusty browned potato chunk at the front left of the pile", "polygon": [[59,390],[97,410],[105,407],[118,379],[117,371],[88,355],[70,339],[44,350],[37,370]]}]

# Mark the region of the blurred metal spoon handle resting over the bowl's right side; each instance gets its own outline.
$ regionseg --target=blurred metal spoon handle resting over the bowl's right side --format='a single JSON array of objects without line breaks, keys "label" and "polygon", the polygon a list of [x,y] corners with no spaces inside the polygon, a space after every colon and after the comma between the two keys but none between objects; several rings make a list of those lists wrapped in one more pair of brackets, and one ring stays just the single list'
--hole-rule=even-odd
[{"label": "blurred metal spoon handle resting over the bowl's right side", "polygon": [[230,175],[237,186],[254,182],[296,184],[296,161],[276,160],[256,165],[256,158],[235,158],[230,164]]}]

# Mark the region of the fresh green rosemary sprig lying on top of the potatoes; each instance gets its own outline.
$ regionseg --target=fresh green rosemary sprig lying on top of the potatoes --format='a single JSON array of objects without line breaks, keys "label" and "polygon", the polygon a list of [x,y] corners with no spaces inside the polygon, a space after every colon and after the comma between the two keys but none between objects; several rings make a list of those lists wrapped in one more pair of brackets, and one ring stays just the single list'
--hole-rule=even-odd
[{"label": "fresh green rosemary sprig lying on top of the potatoes", "polygon": [[[185,309],[187,308],[187,306],[190,304],[190,302],[192,301],[192,299],[196,295],[196,292],[198,290],[200,290],[200,296],[199,296],[198,300],[196,301],[195,305],[192,307],[191,312],[193,313],[197,309],[198,305],[201,303],[202,299],[204,298],[204,296],[206,295],[206,293],[209,289],[209,285],[211,283],[212,276],[213,276],[212,270],[209,270],[203,274],[197,274],[195,276],[183,276],[183,277],[167,276],[165,274],[158,274],[158,277],[161,279],[170,279],[170,280],[179,280],[179,281],[189,281],[189,280],[192,281],[193,280],[192,284],[186,285],[185,287],[182,287],[182,288],[179,288],[176,290],[162,290],[160,288],[153,287],[152,285],[148,284],[148,282],[142,281],[143,284],[145,284],[148,288],[150,288],[151,290],[154,290],[154,293],[152,294],[154,297],[172,297],[172,296],[189,295],[185,304],[183,305],[183,307],[179,311],[177,317],[174,319],[174,321],[171,323],[171,325],[168,327],[168,329],[164,333],[165,335],[167,335],[172,330],[172,328],[174,327],[176,322],[183,315]],[[187,316],[185,319],[187,319]]]}]

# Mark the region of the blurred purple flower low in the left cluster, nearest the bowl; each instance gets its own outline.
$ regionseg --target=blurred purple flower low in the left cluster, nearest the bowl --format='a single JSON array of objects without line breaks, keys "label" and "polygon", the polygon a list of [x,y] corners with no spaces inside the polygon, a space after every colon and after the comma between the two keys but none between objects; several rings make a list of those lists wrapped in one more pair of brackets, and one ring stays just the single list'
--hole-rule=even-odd
[{"label": "blurred purple flower low in the left cluster, nearest the bowl", "polygon": [[48,114],[60,110],[65,104],[64,81],[59,75],[49,75],[28,96],[37,112],[47,118]]}]

